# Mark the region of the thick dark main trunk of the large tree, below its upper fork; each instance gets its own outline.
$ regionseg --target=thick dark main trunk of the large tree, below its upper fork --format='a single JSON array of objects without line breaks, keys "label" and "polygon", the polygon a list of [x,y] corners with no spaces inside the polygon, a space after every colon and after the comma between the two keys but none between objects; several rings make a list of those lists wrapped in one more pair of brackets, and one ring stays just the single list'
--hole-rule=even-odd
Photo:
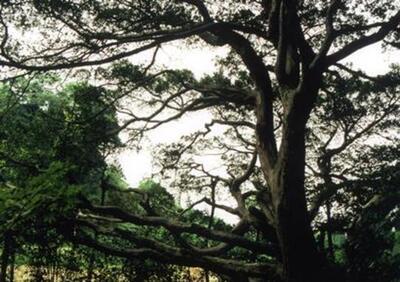
[{"label": "thick dark main trunk of the large tree, below its upper fork", "polygon": [[272,167],[271,162],[263,162],[271,158],[268,151],[259,146],[260,154],[264,155],[260,156],[261,166],[271,189],[282,277],[287,282],[330,281],[325,273],[327,264],[318,251],[311,229],[304,186],[306,122],[318,91],[318,86],[312,87],[311,91],[311,87],[307,87],[308,93],[288,91],[285,95],[281,145]]}]

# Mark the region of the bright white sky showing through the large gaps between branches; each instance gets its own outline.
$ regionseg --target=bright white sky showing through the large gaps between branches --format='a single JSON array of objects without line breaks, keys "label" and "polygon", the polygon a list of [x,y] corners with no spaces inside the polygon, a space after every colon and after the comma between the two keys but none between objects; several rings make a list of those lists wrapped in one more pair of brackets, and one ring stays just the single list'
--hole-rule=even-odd
[{"label": "bright white sky showing through the large gaps between branches", "polygon": [[[224,56],[227,49],[206,49],[206,48],[179,48],[179,45],[163,47],[157,60],[160,64],[173,66],[178,69],[191,70],[196,78],[205,74],[211,74],[217,70],[215,59]],[[151,53],[141,55],[140,58],[134,57],[133,60],[146,61]],[[144,59],[147,57],[146,59]],[[353,68],[362,69],[369,75],[384,74],[388,71],[392,63],[400,63],[398,52],[383,53],[379,44],[374,44],[359,50],[350,58],[343,62],[352,62]],[[150,148],[162,142],[177,141],[180,136],[203,128],[204,124],[211,119],[207,112],[190,113],[189,117],[184,117],[179,121],[170,122],[149,133],[147,147],[139,153],[135,151],[125,151],[119,155],[119,162],[122,166],[124,175],[132,187],[136,187],[144,178],[150,177],[152,169],[152,156]]]}]

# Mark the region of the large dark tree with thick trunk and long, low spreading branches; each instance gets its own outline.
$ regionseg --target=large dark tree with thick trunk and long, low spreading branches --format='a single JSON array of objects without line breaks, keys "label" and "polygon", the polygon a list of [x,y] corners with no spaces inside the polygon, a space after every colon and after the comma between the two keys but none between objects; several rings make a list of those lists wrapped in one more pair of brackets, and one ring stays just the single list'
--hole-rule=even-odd
[{"label": "large dark tree with thick trunk and long, low spreading branches", "polygon": [[[119,130],[131,128],[133,132],[143,133],[185,113],[208,108],[220,117],[213,124],[232,126],[233,134],[237,133],[237,140],[246,148],[237,154],[251,159],[244,169],[243,165],[233,162],[229,178],[212,177],[199,166],[191,167],[213,179],[207,184],[211,191],[220,189],[221,185],[227,187],[237,202],[237,207],[226,207],[217,204],[215,197],[204,200],[214,208],[240,217],[232,232],[215,230],[212,224],[206,228],[166,219],[149,208],[146,214],[137,215],[118,207],[96,206],[84,201],[81,208],[86,212],[137,225],[161,226],[171,233],[176,244],[138,238],[119,227],[111,235],[137,242],[137,248],[115,249],[91,238],[79,237],[76,232],[70,234],[71,239],[115,255],[201,266],[240,279],[341,279],[319,251],[311,220],[318,212],[318,205],[329,206],[326,199],[335,195],[331,192],[336,189],[332,188],[333,184],[337,184],[332,180],[337,169],[332,165],[334,156],[343,153],[392,113],[397,100],[384,100],[382,95],[382,101],[387,101],[387,107],[382,109],[387,114],[382,113],[382,118],[373,116],[375,121],[364,120],[368,113],[363,111],[338,121],[340,116],[335,115],[344,115],[344,108],[352,101],[332,93],[337,88],[331,76],[340,78],[347,72],[356,81],[364,79],[379,84],[381,89],[375,93],[382,93],[388,87],[396,91],[393,86],[396,76],[388,83],[384,77],[369,77],[340,61],[377,42],[399,45],[400,4],[397,1],[47,0],[4,1],[1,5],[0,64],[10,71],[7,72],[10,76],[22,74],[19,70],[36,72],[95,66],[155,50],[154,60],[148,66],[120,62],[112,71],[99,72],[101,79],[108,81],[106,84],[117,87],[121,99],[130,97],[142,106],[156,107],[150,114],[121,109],[129,118]],[[26,35],[34,35],[35,40],[24,41]],[[229,57],[221,61],[220,73],[200,81],[188,72],[152,68],[159,46],[177,40],[185,44],[226,46]],[[343,95],[354,92],[346,89],[346,85],[340,90]],[[362,99],[369,105],[367,110],[374,107],[373,99]],[[324,101],[331,103],[332,108],[316,114],[307,128],[312,110]],[[351,107],[347,110],[352,111]],[[329,114],[343,127],[318,131],[321,115],[328,117]],[[247,128],[246,134],[238,131],[240,126]],[[330,142],[339,129],[344,131],[343,138],[337,147],[332,146]],[[306,162],[306,148],[310,147],[306,138],[310,134],[329,135],[328,139],[320,140],[322,157],[317,160],[319,171],[315,171],[323,178],[323,185],[318,187],[324,187],[327,192],[306,198],[306,164],[312,168],[311,161]],[[190,151],[201,137],[196,136],[169,154],[174,160],[172,166],[179,165],[182,152]],[[252,149],[254,152],[249,155]],[[257,160],[260,170],[256,169]],[[253,176],[255,188],[244,191],[247,180]],[[206,185],[201,181],[196,183]],[[307,201],[313,200],[314,205],[308,210]],[[143,205],[147,204],[144,197]],[[71,221],[71,224],[84,224],[82,220]],[[249,230],[257,230],[264,240],[246,237],[244,234]],[[188,244],[184,236],[187,233],[221,244],[200,249]],[[265,262],[257,258],[252,263],[229,259],[226,251],[235,246],[270,259]]]}]

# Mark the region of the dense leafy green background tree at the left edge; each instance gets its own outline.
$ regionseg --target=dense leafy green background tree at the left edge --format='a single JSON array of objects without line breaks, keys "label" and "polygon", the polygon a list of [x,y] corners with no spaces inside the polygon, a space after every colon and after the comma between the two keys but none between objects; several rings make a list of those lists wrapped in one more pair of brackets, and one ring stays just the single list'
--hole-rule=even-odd
[{"label": "dense leafy green background tree at the left edge", "polygon": [[[105,154],[120,146],[115,135],[104,134],[117,124],[110,105],[101,106],[101,89],[87,84],[57,93],[46,89],[56,83],[54,76],[38,76],[1,86],[2,281],[16,253],[24,254],[25,263],[29,258],[27,265],[36,264],[37,281],[44,266],[66,263],[67,255],[57,255],[65,240],[55,225],[60,215],[73,216],[82,186],[91,199],[100,195]],[[101,115],[83,123],[84,115],[100,109]]]}]

